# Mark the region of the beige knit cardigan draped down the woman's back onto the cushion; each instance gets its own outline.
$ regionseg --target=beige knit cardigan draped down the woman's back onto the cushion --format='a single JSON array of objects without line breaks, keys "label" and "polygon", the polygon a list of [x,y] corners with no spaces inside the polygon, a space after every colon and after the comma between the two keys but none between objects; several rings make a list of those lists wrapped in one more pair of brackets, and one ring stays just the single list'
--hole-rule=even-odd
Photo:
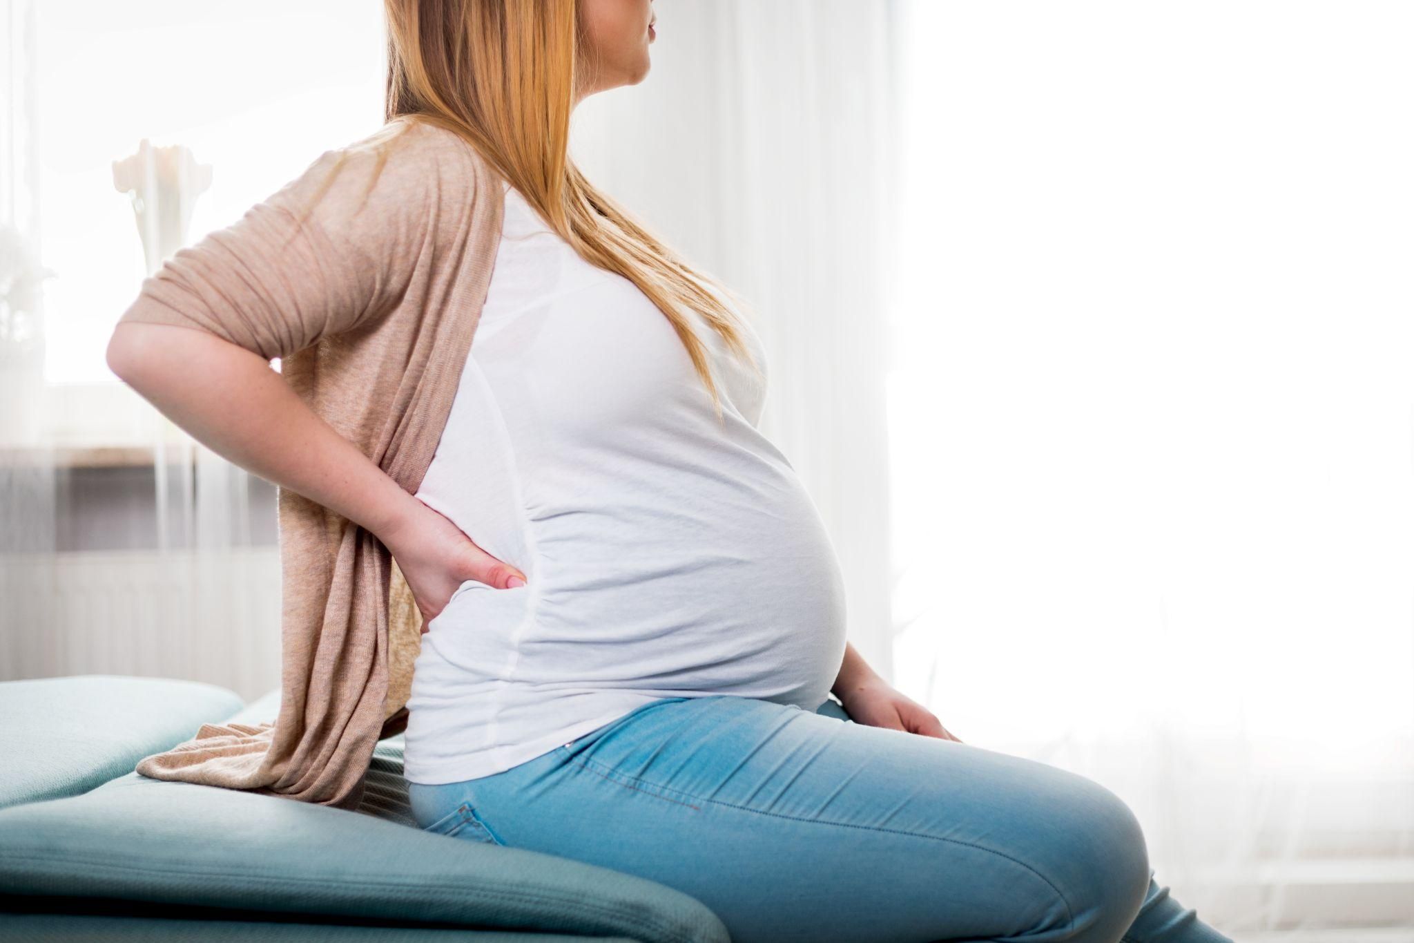
[{"label": "beige knit cardigan draped down the woman's back onto the cushion", "polygon": [[[375,144],[389,139],[379,168]],[[296,393],[416,493],[486,298],[502,180],[457,134],[395,119],[178,250],[120,321],[208,331],[280,358]],[[137,772],[355,809],[373,746],[407,724],[421,614],[363,527],[283,488],[279,523],[276,722],[204,724]]]}]

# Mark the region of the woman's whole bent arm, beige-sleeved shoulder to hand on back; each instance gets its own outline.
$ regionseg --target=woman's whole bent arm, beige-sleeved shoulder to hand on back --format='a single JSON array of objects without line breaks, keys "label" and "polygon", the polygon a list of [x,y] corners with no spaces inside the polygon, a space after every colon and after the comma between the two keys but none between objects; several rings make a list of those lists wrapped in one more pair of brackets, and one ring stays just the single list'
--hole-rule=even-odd
[{"label": "woman's whole bent arm, beige-sleeved shoulder to hand on back", "polygon": [[216,454],[378,537],[426,631],[467,580],[509,588],[525,574],[409,493],[270,369],[325,338],[378,329],[407,298],[411,260],[434,238],[428,221],[447,201],[477,198],[465,148],[447,150],[430,129],[370,140],[324,151],[232,225],[173,253],[119,317],[107,363]]}]

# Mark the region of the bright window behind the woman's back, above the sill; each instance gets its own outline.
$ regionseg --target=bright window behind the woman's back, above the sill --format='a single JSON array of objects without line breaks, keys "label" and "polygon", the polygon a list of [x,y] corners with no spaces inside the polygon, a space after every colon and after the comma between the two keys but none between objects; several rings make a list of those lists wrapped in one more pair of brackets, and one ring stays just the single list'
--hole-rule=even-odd
[{"label": "bright window behind the woman's back, above the sill", "polygon": [[[113,163],[140,141],[212,168],[188,243],[383,122],[378,0],[44,0],[34,113],[49,383],[116,382],[105,348],[147,274]],[[75,120],[65,120],[72,116]]]}]

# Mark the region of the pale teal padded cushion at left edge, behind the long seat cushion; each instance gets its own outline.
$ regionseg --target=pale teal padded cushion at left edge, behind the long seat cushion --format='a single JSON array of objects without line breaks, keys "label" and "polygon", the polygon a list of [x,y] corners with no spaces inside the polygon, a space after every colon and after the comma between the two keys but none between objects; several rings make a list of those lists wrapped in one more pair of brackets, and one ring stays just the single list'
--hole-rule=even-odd
[{"label": "pale teal padded cushion at left edge, behind the long seat cushion", "polygon": [[235,691],[175,679],[76,674],[4,681],[0,809],[88,792],[240,707]]}]

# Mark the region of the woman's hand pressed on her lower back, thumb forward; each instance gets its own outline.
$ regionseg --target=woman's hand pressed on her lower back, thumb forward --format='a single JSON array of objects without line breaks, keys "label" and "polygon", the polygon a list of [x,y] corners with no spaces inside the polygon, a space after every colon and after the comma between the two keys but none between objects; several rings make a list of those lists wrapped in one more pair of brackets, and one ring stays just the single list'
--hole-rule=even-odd
[{"label": "woman's hand pressed on her lower back, thumb forward", "polygon": [[518,567],[492,557],[445,515],[413,495],[400,509],[397,522],[378,536],[392,551],[407,588],[413,591],[423,614],[423,633],[467,580],[496,590],[526,584],[526,575]]}]

